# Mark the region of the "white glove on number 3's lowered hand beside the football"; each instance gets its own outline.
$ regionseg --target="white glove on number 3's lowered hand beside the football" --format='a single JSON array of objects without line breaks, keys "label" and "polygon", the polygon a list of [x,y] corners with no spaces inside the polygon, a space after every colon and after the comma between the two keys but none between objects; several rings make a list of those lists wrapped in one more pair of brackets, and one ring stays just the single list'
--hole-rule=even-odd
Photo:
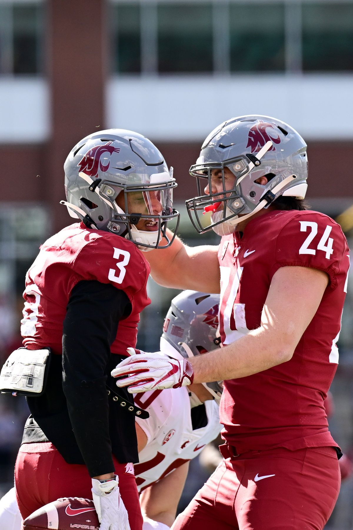
[{"label": "white glove on number 3's lowered hand beside the football", "polygon": [[100,522],[99,530],[130,530],[127,510],[121,500],[119,479],[101,482],[92,479],[92,495]]}]

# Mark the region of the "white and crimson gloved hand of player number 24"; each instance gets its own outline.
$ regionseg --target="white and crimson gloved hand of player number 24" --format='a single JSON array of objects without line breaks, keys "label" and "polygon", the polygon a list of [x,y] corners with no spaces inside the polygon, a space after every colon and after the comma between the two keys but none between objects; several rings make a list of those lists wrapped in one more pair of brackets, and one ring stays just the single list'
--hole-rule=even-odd
[{"label": "white and crimson gloved hand of player number 24", "polygon": [[146,392],[179,388],[191,385],[193,370],[190,361],[172,359],[160,351],[148,354],[145,351],[128,348],[130,357],[124,359],[111,372],[113,377],[122,377],[117,386],[128,386],[128,391]]}]

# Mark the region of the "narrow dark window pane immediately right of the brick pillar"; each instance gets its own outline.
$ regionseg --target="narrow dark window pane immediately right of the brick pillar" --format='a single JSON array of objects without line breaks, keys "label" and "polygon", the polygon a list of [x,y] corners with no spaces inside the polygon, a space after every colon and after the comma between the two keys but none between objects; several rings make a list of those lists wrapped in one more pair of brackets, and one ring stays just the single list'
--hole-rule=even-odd
[{"label": "narrow dark window pane immediately right of the brick pillar", "polygon": [[114,70],[136,73],[141,70],[140,5],[118,4],[113,7]]}]

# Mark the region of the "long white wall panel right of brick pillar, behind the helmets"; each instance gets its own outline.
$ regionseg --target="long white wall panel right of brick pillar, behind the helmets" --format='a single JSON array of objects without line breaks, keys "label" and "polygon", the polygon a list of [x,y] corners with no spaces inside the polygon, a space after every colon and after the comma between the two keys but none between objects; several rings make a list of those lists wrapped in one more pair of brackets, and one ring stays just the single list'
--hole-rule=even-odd
[{"label": "long white wall panel right of brick pillar, behind the helmets", "polygon": [[160,141],[199,141],[252,113],[305,139],[353,139],[353,75],[114,76],[107,86],[107,126]]}]

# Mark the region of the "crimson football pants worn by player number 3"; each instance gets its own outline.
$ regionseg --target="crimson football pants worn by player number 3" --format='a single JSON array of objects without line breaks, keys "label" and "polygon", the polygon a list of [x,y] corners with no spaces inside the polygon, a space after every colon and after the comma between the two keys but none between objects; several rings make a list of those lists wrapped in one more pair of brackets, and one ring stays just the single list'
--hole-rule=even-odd
[{"label": "crimson football pants worn by player number 3", "polygon": [[[142,530],[135,475],[113,457],[119,490],[131,530]],[[127,471],[126,471],[127,468]],[[85,465],[67,464],[51,443],[23,444],[15,465],[15,489],[22,518],[61,497],[92,499],[92,480]]]}]

